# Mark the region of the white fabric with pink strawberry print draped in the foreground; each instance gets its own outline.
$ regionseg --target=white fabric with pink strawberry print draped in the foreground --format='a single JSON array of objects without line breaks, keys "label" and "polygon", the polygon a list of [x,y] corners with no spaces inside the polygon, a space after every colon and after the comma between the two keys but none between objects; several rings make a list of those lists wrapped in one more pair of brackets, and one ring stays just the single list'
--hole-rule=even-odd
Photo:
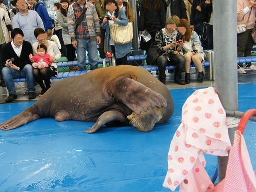
[{"label": "white fabric with pink strawberry print draped in the foreground", "polygon": [[[226,113],[217,93],[213,87],[196,90],[182,107],[182,121],[170,144],[168,171],[163,186],[173,191],[183,182],[180,191],[187,191],[182,189],[187,187],[193,188],[193,192],[213,191],[210,177],[205,176],[203,152],[227,156],[230,148]],[[202,167],[195,166],[197,161]],[[195,169],[201,171],[194,173]],[[206,178],[206,181],[200,177]],[[187,179],[186,183],[184,179]],[[198,190],[194,190],[196,188]]]}]

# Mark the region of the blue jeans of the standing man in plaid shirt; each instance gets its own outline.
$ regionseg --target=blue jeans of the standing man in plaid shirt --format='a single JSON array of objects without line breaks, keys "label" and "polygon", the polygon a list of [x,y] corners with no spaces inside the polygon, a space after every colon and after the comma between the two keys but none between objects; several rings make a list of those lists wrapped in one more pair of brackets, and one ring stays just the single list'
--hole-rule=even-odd
[{"label": "blue jeans of the standing man in plaid shirt", "polygon": [[98,68],[98,51],[97,41],[91,41],[90,39],[77,39],[77,63],[78,70],[86,70],[86,51],[88,52],[90,69]]}]

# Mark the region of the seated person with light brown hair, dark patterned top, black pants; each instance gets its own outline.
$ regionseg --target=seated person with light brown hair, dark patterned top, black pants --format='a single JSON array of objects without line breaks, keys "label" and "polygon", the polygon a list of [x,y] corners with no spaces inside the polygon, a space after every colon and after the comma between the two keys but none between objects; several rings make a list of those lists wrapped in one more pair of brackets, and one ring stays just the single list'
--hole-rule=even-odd
[{"label": "seated person with light brown hair, dark patterned top, black pants", "polygon": [[180,54],[177,45],[180,44],[181,34],[178,32],[180,19],[177,16],[170,16],[166,19],[165,28],[156,33],[157,65],[159,69],[159,80],[165,84],[166,82],[166,66],[175,65],[174,83],[185,85],[181,80],[181,73],[184,68],[185,59]]}]

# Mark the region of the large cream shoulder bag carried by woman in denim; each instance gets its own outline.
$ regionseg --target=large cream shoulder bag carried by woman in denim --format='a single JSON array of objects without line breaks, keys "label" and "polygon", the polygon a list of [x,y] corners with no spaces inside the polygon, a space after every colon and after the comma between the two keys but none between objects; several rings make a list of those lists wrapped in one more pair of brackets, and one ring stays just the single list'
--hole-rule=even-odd
[{"label": "large cream shoulder bag carried by woman in denim", "polygon": [[127,26],[112,24],[109,26],[109,29],[110,29],[111,37],[116,44],[122,45],[122,44],[132,42],[132,39],[133,39],[132,22],[129,22]]}]

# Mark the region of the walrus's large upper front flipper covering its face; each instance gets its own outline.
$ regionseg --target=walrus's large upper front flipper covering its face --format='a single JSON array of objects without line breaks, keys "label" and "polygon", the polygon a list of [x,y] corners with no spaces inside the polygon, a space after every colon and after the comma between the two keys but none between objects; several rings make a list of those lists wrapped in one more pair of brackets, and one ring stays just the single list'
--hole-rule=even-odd
[{"label": "walrus's large upper front flipper covering its face", "polygon": [[148,107],[167,106],[167,101],[161,94],[127,77],[117,78],[106,89],[111,98],[122,102],[136,114],[147,111]]}]

